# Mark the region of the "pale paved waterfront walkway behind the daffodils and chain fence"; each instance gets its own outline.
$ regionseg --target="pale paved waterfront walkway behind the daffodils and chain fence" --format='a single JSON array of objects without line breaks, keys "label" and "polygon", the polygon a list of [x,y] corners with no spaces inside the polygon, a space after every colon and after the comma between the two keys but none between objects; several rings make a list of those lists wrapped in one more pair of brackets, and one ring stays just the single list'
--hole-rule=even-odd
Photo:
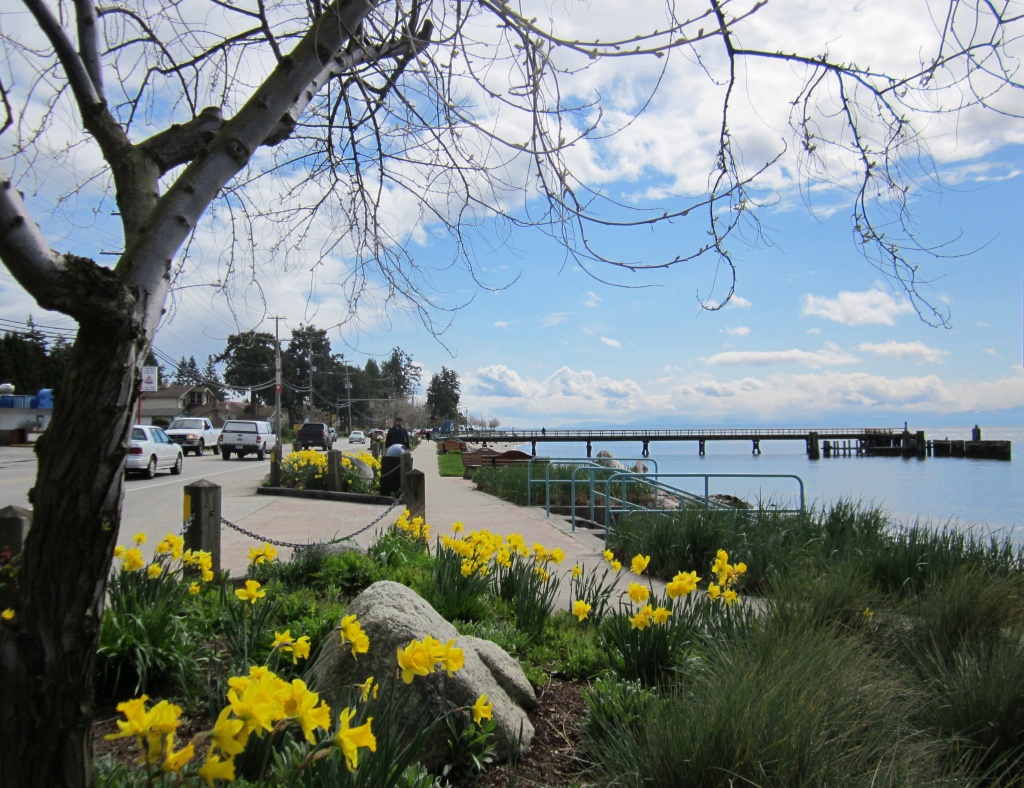
[{"label": "pale paved waterfront walkway behind the daffodils and chain fence", "polygon": [[[566,572],[577,563],[588,569],[607,566],[601,557],[604,551],[603,531],[580,528],[573,532],[564,517],[552,515],[548,518],[543,507],[517,507],[480,492],[470,480],[442,477],[437,470],[436,448],[431,441],[422,441],[413,456],[414,467],[425,477],[426,521],[431,526],[432,538],[450,532],[453,523],[461,522],[467,532],[485,529],[502,536],[518,533],[527,545],[540,542],[548,550],[561,548],[565,561],[559,568]],[[394,510],[368,529],[366,526],[384,515],[387,507],[294,497],[255,497],[258,504],[248,501],[248,506],[241,507],[245,514],[238,519],[231,517],[230,501],[224,501],[223,517],[262,537],[298,543],[355,534],[352,540],[366,548],[400,514],[399,510]],[[222,568],[230,570],[233,576],[245,574],[249,549],[258,544],[250,536],[222,528]],[[281,549],[280,553],[282,559],[287,560],[292,551]],[[638,578],[626,568],[631,557],[617,558],[625,565],[618,578],[618,585],[625,588]],[[664,588],[664,583],[655,581],[657,586]],[[558,606],[567,608],[570,604],[568,583],[563,582]]]}]

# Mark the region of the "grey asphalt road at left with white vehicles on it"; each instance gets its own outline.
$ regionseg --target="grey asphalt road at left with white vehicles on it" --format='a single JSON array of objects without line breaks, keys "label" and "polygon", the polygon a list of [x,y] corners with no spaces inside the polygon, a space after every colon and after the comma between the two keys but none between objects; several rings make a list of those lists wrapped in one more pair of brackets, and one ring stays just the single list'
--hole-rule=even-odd
[{"label": "grey asphalt road at left with white vehicles on it", "polygon": [[[182,488],[200,479],[221,486],[221,513],[231,519],[242,518],[265,507],[267,498],[255,489],[270,472],[270,461],[255,456],[223,461],[217,454],[189,454],[184,458],[180,476],[160,471],[154,479],[130,476],[124,483],[121,534],[127,543],[140,531],[148,534],[151,544],[168,532],[181,530],[184,493]],[[0,509],[18,506],[31,509],[29,490],[36,483],[36,454],[32,448],[0,446]]]}]

